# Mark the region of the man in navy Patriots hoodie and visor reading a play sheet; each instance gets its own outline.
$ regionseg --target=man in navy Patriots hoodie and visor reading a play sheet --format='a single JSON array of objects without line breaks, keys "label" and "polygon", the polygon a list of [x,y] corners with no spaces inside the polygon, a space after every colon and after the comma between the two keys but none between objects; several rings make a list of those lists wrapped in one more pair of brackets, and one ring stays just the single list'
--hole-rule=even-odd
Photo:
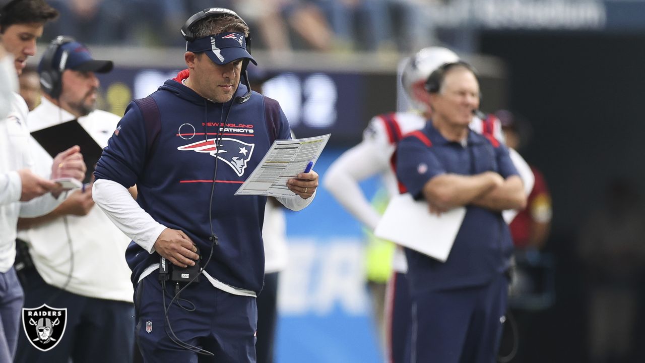
[{"label": "man in navy Patriots hoodie and visor reading a play sheet", "polygon": [[[144,360],[255,362],[266,197],[233,194],[290,128],[277,101],[248,86],[255,60],[241,17],[205,9],[182,34],[188,69],[130,103],[96,167],[94,200],[132,238]],[[127,190],[135,183],[136,202]],[[297,196],[278,200],[298,211],[317,185],[318,174],[303,172],[287,183]],[[160,256],[175,268],[201,265],[199,282],[161,284]]]}]

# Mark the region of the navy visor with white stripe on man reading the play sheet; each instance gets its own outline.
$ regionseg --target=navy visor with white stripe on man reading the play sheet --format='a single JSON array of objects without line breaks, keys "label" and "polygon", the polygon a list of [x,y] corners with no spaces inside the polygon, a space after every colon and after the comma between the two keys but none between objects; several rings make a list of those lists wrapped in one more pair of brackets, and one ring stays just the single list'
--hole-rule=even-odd
[{"label": "navy visor with white stripe on man reading the play sheet", "polygon": [[257,62],[246,50],[244,34],[237,32],[224,32],[194,41],[186,42],[186,51],[193,53],[206,53],[216,65],[225,65],[237,59],[246,58],[257,65]]}]

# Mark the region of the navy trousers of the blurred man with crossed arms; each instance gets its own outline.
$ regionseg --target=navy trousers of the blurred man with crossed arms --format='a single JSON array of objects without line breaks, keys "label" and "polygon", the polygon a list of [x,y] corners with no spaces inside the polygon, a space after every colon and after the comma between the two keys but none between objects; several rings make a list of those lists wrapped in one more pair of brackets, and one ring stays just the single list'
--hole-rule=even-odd
[{"label": "navy trousers of the blurred man with crossed arms", "polygon": [[508,278],[488,285],[431,291],[413,298],[410,362],[494,363]]}]

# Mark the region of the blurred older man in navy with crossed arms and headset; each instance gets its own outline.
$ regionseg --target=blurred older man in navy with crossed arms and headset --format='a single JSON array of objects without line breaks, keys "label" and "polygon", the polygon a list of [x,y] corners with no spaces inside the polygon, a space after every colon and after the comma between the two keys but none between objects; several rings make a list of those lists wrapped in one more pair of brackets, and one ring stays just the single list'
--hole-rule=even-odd
[{"label": "blurred older man in navy with crossed arms and headset", "polygon": [[474,68],[446,63],[425,88],[432,118],[396,149],[400,192],[425,200],[430,213],[462,206],[466,214],[446,262],[405,249],[412,362],[492,363],[513,251],[502,211],[525,207],[524,185],[506,146],[469,128],[481,96]]}]

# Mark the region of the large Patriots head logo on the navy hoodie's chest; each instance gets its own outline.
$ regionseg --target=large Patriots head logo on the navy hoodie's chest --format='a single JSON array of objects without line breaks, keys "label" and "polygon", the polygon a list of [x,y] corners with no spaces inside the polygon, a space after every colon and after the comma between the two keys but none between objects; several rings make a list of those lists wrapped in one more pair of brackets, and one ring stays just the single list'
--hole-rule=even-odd
[{"label": "large Patriots head logo on the navy hoodie's chest", "polygon": [[232,167],[237,176],[242,176],[246,169],[246,163],[251,159],[254,147],[254,143],[245,143],[235,139],[223,138],[219,141],[219,145],[215,145],[215,139],[208,139],[177,147],[177,150],[208,152]]}]

